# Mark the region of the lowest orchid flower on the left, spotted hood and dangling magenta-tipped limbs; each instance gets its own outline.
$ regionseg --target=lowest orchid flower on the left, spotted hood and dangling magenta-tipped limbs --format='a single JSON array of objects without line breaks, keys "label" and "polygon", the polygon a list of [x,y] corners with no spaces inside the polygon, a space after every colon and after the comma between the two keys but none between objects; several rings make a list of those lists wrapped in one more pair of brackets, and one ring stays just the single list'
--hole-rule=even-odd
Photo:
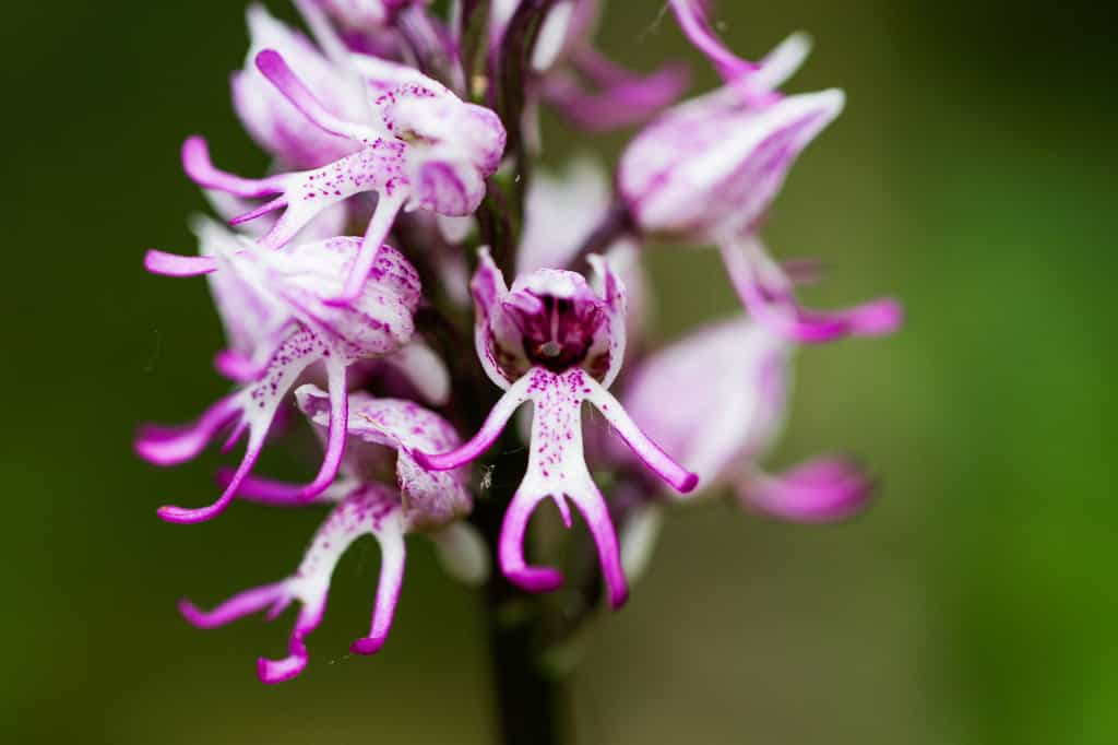
[{"label": "lowest orchid flower on the left, spotted hood and dangling magenta-tipped limbs", "polygon": [[[303,386],[295,396],[300,408],[320,431],[328,425],[332,427],[329,394]],[[367,394],[352,394],[348,412],[350,442],[342,478],[314,500],[337,507],[319,528],[296,572],[280,582],[245,591],[209,612],[198,610],[189,601],[179,605],[191,624],[212,629],[265,609],[271,620],[293,601],[302,604],[287,642],[287,657],[257,661],[257,675],[267,683],[290,680],[306,667],[306,636],[322,620],[331,575],[342,554],[361,536],[372,535],[377,539],[381,559],[369,634],[350,647],[359,654],[379,651],[391,629],[404,583],[404,538],[408,532],[430,536],[448,570],[464,582],[479,584],[489,572],[484,544],[474,528],[462,520],[472,506],[466,474],[461,470],[432,473],[408,455],[408,449],[413,447],[457,445],[454,427],[413,402],[378,399]],[[392,460],[395,487],[378,481]],[[249,478],[239,489],[241,497],[266,504],[306,503],[299,484]]]}]

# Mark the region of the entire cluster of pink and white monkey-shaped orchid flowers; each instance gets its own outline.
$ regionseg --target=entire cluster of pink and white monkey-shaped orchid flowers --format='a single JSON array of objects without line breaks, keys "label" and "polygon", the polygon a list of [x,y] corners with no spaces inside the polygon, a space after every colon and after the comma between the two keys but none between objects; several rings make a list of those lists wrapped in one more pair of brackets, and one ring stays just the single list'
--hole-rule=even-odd
[{"label": "entire cluster of pink and white monkey-shaped orchid flowers", "polygon": [[[225,450],[245,440],[220,496],[163,507],[164,520],[208,520],[235,500],[331,511],[293,574],[208,612],[183,602],[188,621],[272,617],[297,601],[287,656],[258,664],[277,682],[306,666],[331,573],[366,534],[381,568],[371,629],[352,645],[363,654],[391,626],[411,532],[466,582],[484,582],[494,554],[513,585],[548,592],[563,575],[539,563],[529,522],[550,499],[570,528],[574,506],[618,607],[663,508],[697,487],[792,520],[865,502],[870,479],[847,460],[760,465],[795,348],[900,323],[891,300],[805,309],[795,285],[817,279],[814,265],[774,261],[760,241],[792,163],[843,106],[837,89],[779,91],[804,37],[752,63],[713,32],[705,3],[672,0],[723,79],[675,104],[680,65],[638,74],[593,47],[595,0],[455,2],[445,19],[421,0],[295,4],[310,36],[249,8],[248,56],[230,81],[273,167],[220,170],[206,140],[189,138],[183,169],[221,221],[196,218],[197,255],[144,260],[155,274],[207,277],[227,337],[214,365],[231,393],[192,424],[143,427],[136,450],[173,465],[219,435]],[[614,194],[587,158],[533,175],[544,109],[581,132],[643,126]],[[655,349],[641,258],[662,238],[718,247],[745,312]],[[509,426],[529,403],[530,423]],[[584,417],[589,408],[600,416]],[[320,435],[322,462],[304,483],[253,474],[281,414]],[[486,464],[519,437],[519,487],[498,493]],[[472,515],[480,497],[498,500],[498,528]]]}]

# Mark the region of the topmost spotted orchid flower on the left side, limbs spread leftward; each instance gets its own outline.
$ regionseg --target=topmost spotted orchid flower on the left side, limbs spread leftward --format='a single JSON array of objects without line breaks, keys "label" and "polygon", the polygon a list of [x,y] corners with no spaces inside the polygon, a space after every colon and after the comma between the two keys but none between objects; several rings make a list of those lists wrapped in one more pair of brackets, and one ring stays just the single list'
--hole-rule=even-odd
[{"label": "topmost spotted orchid flower on the left side, limbs spread leftward", "polygon": [[314,170],[247,179],[215,168],[202,138],[189,138],[182,147],[183,167],[199,186],[246,199],[272,197],[233,223],[284,210],[259,241],[268,248],[286,245],[332,205],[363,191],[377,192],[363,246],[343,286],[328,299],[332,304],[359,295],[378,247],[401,209],[451,216],[476,210],[505,140],[496,114],[464,103],[420,73],[360,55],[352,60],[370,91],[377,92],[371,101],[373,115],[366,123],[334,115],[278,51],[265,49],[256,56],[257,68],[276,89],[312,124],[351,142],[351,154]]}]

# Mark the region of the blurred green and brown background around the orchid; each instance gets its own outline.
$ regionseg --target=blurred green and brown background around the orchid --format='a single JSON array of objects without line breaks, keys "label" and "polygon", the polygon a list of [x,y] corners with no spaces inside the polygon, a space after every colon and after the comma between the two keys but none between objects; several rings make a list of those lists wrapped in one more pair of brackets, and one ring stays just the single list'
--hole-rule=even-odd
[{"label": "blurred green and brown background around the orchid", "polygon": [[[605,48],[645,69],[683,55],[713,83],[662,3],[609,4]],[[593,631],[579,743],[1118,742],[1107,12],[722,3],[749,56],[813,34],[793,89],[849,93],[778,200],[771,246],[833,267],[818,304],[891,292],[909,311],[899,337],[800,355],[774,464],[847,450],[883,490],[828,527],[678,512],[631,603]],[[293,683],[254,677],[283,622],[200,632],[176,614],[183,594],[281,576],[319,519],[241,506],[164,525],[157,506],[211,497],[218,459],[159,472],[130,445],[138,422],[189,418],[222,390],[202,284],[140,258],[192,246],[184,135],[263,167],[227,96],[239,3],[9,3],[2,23],[6,742],[490,742],[477,598],[421,541],[383,652],[345,653],[368,620],[370,543],[339,567]],[[552,160],[624,142],[548,133]],[[736,309],[712,253],[652,262],[663,338]]]}]

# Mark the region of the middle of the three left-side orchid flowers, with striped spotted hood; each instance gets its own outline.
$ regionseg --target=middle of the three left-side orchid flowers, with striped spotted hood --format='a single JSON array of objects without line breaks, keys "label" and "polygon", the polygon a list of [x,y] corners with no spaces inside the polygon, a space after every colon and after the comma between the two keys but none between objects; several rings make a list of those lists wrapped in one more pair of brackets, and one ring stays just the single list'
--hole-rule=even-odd
[{"label": "middle of the three left-side orchid flowers, with striped spotted hood", "polygon": [[363,275],[357,301],[343,308],[329,304],[360,251],[360,238],[340,237],[286,252],[243,242],[210,256],[148,253],[145,265],[155,274],[216,275],[215,291],[222,298],[219,305],[226,303],[222,319],[233,341],[222,367],[240,385],[191,425],[144,428],[136,451],[158,465],[174,465],[195,458],[227,425],[235,425],[227,447],[248,434],[240,466],[216,502],[200,509],[163,507],[160,517],[198,522],[221,512],[259,456],[287,392],[316,364],[325,371],[332,425],[319,474],[302,493],[312,498],[330,485],[344,450],[347,368],[391,355],[407,343],[419,303],[415,267],[383,246],[376,265]]}]

